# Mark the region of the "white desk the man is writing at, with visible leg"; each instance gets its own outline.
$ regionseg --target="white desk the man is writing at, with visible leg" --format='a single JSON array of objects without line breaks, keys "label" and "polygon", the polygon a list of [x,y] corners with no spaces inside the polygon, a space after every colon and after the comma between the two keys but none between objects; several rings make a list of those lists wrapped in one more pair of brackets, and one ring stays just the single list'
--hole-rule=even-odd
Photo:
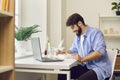
[{"label": "white desk the man is writing at, with visible leg", "polygon": [[65,59],[62,62],[40,62],[33,57],[26,57],[15,60],[17,72],[66,74],[67,80],[70,80],[69,69],[77,64],[74,59]]}]

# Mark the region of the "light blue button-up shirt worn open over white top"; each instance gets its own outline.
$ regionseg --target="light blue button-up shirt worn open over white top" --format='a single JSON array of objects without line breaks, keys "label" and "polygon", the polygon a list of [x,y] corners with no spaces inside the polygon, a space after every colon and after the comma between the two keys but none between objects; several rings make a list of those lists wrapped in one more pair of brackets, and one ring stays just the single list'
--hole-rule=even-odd
[{"label": "light blue button-up shirt worn open over white top", "polygon": [[97,74],[98,80],[104,80],[105,78],[110,77],[112,66],[108,58],[106,44],[102,32],[97,28],[87,26],[86,32],[84,33],[83,42],[84,53],[81,51],[80,40],[80,37],[75,37],[70,48],[72,53],[78,53],[81,57],[88,56],[93,51],[98,51],[102,54],[100,58],[85,63],[83,62],[81,65],[86,65],[88,69],[94,70]]}]

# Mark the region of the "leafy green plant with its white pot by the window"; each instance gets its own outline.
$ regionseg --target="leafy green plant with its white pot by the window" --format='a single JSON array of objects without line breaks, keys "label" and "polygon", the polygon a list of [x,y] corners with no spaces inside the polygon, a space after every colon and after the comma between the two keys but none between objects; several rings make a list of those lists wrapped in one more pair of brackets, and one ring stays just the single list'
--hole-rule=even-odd
[{"label": "leafy green plant with its white pot by the window", "polygon": [[38,27],[39,25],[32,25],[29,27],[15,28],[15,47],[17,53],[25,54],[27,46],[26,41],[31,38],[32,34],[40,32],[37,30]]}]

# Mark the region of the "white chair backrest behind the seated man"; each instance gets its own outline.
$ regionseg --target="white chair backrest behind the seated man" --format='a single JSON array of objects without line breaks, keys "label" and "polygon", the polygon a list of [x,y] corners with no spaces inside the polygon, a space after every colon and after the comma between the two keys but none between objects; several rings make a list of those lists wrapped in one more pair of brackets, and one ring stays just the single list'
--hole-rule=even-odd
[{"label": "white chair backrest behind the seated man", "polygon": [[112,74],[109,80],[112,80],[112,76],[113,76],[113,72],[114,72],[114,68],[115,68],[115,62],[116,62],[116,57],[117,57],[117,50],[107,50],[108,52],[108,57],[110,59],[110,62],[112,64]]}]

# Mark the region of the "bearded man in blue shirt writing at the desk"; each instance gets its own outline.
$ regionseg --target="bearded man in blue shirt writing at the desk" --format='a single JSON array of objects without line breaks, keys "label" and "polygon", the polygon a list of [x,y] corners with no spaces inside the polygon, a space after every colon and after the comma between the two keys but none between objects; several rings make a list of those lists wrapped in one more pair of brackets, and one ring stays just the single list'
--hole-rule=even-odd
[{"label": "bearded man in blue shirt writing at the desk", "polygon": [[[112,66],[106,51],[104,36],[97,28],[85,24],[81,15],[72,14],[67,22],[76,37],[70,50],[73,58],[81,64],[72,67],[71,78],[77,80],[109,80]],[[63,53],[59,51],[58,54]],[[66,75],[59,74],[58,80],[66,80]]]}]

